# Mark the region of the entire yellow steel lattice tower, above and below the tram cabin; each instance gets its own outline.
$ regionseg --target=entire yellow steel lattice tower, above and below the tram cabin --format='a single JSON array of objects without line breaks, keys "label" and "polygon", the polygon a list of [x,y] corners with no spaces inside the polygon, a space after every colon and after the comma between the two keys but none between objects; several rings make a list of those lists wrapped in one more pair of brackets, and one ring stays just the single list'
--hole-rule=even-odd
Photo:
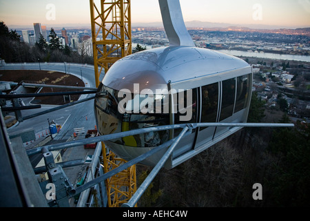
[{"label": "entire yellow steel lattice tower, above and below the tram cabin", "polygon": [[[112,64],[132,53],[130,0],[90,0],[92,44],[96,86],[99,77]],[[115,169],[125,160],[116,157],[103,146],[104,171]],[[136,191],[136,165],[106,181],[108,206],[118,207],[128,202]]]}]

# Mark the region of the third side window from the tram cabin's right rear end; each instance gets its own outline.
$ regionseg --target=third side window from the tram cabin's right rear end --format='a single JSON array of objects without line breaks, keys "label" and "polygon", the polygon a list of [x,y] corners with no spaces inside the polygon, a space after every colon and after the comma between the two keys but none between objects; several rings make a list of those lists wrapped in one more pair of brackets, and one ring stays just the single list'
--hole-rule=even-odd
[{"label": "third side window from the tram cabin's right rear end", "polygon": [[[218,113],[218,83],[209,84],[201,88],[202,108],[201,122],[214,123]],[[205,128],[200,128],[200,131]]]}]

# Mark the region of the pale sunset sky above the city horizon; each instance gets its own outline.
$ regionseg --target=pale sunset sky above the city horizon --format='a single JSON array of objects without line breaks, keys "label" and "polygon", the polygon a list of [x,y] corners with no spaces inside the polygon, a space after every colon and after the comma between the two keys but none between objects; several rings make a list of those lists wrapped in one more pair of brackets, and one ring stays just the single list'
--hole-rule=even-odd
[{"label": "pale sunset sky above the city horizon", "polygon": [[[54,19],[47,19],[49,6]],[[310,27],[310,0],[180,0],[185,21],[283,28]],[[0,0],[0,20],[7,26],[90,23],[88,0]],[[158,0],[132,0],[132,23],[161,21]]]}]

